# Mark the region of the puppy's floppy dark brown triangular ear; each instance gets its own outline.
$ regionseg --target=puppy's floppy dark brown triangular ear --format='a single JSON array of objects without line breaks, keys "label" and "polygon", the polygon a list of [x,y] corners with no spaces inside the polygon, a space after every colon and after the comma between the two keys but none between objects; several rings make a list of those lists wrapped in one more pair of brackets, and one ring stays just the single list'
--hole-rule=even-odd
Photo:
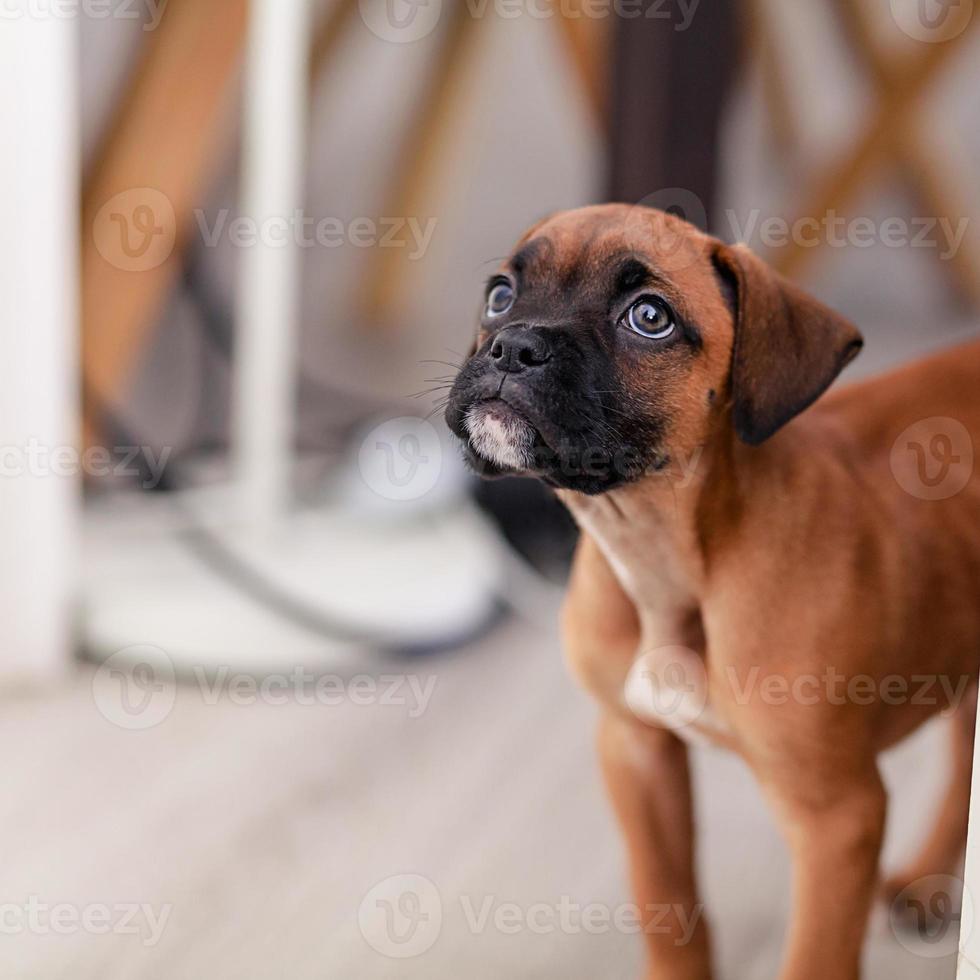
[{"label": "puppy's floppy dark brown triangular ear", "polygon": [[864,339],[744,245],[720,244],[715,263],[733,287],[732,417],[758,445],[812,405],[857,356]]}]

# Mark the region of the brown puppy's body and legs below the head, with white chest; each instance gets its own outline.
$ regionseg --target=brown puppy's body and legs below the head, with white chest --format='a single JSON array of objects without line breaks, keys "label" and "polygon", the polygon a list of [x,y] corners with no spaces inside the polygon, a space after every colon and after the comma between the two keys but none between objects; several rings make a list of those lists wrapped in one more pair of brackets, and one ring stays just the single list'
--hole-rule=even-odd
[{"label": "brown puppy's body and legs below the head, with white chest", "polygon": [[[635,891],[696,905],[687,763],[675,743],[697,734],[734,749],[794,859],[786,980],[860,975],[885,816],[875,756],[940,710],[954,712],[947,796],[921,853],[883,895],[928,908],[928,877],[960,873],[980,661],[980,483],[916,498],[896,481],[890,450],[921,419],[957,419],[980,439],[977,378],[973,343],[834,393],[763,446],[722,440],[686,488],[656,476],[604,497],[562,493],[585,532],[566,650],[606,708],[600,750]],[[667,670],[650,660],[662,648]],[[683,648],[703,658],[706,698],[674,652]],[[674,671],[694,722],[676,724],[687,717],[681,702],[661,697],[665,716],[637,724],[638,663],[661,686]],[[770,682],[779,686],[767,693]],[[651,978],[710,976],[706,934],[693,948],[649,946]]]}]

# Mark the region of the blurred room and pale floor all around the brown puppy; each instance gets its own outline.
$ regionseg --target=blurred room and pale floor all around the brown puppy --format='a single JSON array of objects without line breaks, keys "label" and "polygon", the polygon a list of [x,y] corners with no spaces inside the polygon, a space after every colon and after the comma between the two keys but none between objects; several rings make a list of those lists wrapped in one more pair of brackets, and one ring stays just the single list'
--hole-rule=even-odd
[{"label": "blurred room and pale floor all around the brown puppy", "polygon": [[[975,333],[973,7],[5,3],[2,975],[636,976],[573,528],[441,399],[516,238],[602,200],[748,241],[861,326],[848,377]],[[889,865],[940,725],[885,760]],[[695,776],[719,975],[771,977],[782,844]],[[870,976],[954,976],[872,932]]]}]

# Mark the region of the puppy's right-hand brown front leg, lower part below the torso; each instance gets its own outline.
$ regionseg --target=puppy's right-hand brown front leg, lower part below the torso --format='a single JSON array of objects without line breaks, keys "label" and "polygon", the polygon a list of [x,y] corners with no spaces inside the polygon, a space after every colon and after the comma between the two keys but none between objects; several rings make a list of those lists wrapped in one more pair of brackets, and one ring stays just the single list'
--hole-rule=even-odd
[{"label": "puppy's right-hand brown front leg, lower part below the torso", "polygon": [[[885,791],[872,765],[834,782],[771,784],[793,863],[793,912],[781,980],[857,980],[876,891]],[[834,777],[831,776],[831,779]]]}]

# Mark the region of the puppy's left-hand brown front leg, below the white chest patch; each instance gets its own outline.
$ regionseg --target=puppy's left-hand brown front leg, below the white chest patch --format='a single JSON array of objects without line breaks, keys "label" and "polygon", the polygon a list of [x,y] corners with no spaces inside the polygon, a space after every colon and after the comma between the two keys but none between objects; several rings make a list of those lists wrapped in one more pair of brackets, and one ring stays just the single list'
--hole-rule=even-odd
[{"label": "puppy's left-hand brown front leg, below the white chest patch", "polygon": [[687,748],[669,731],[608,712],[600,723],[599,754],[626,836],[650,980],[709,980]]}]

